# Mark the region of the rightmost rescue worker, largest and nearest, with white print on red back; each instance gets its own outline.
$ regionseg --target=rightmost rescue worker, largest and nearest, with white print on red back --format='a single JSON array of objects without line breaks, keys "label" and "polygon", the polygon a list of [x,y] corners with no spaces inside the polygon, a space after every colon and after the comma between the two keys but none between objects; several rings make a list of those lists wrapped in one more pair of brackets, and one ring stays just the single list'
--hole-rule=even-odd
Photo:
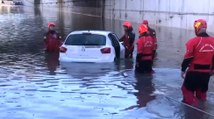
[{"label": "rightmost rescue worker, largest and nearest, with white print on red back", "polygon": [[203,19],[194,22],[194,29],[196,37],[186,43],[181,90],[183,102],[197,106],[199,100],[207,99],[210,73],[214,69],[214,38],[206,33],[207,23]]}]

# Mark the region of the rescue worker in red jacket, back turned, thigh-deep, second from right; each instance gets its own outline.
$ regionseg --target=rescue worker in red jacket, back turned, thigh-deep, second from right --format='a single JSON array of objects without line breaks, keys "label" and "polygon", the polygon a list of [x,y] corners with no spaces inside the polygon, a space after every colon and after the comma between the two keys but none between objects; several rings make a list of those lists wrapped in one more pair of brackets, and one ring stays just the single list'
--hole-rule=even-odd
[{"label": "rescue worker in red jacket, back turned, thigh-deep, second from right", "polygon": [[140,73],[152,73],[154,40],[148,33],[148,27],[139,26],[140,37],[137,40],[137,57],[135,71]]}]

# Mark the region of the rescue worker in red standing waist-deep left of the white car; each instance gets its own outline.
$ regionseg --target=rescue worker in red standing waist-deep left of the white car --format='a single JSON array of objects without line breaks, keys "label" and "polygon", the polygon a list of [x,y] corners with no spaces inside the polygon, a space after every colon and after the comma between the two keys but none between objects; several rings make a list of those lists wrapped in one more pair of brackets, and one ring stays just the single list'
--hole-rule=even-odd
[{"label": "rescue worker in red standing waist-deep left of the white car", "polygon": [[44,36],[45,50],[47,52],[59,52],[61,36],[55,31],[55,24],[48,23],[48,32]]}]

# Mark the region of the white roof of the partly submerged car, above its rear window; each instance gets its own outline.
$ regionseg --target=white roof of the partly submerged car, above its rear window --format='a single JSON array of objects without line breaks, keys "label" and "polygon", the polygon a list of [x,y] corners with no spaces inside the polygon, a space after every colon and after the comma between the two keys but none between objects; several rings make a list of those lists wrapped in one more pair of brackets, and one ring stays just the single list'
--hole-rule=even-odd
[{"label": "white roof of the partly submerged car, above its rear window", "polygon": [[82,34],[82,33],[92,33],[92,34],[107,36],[109,33],[112,33],[112,32],[111,31],[102,31],[102,30],[81,30],[81,31],[73,31],[69,35]]}]

